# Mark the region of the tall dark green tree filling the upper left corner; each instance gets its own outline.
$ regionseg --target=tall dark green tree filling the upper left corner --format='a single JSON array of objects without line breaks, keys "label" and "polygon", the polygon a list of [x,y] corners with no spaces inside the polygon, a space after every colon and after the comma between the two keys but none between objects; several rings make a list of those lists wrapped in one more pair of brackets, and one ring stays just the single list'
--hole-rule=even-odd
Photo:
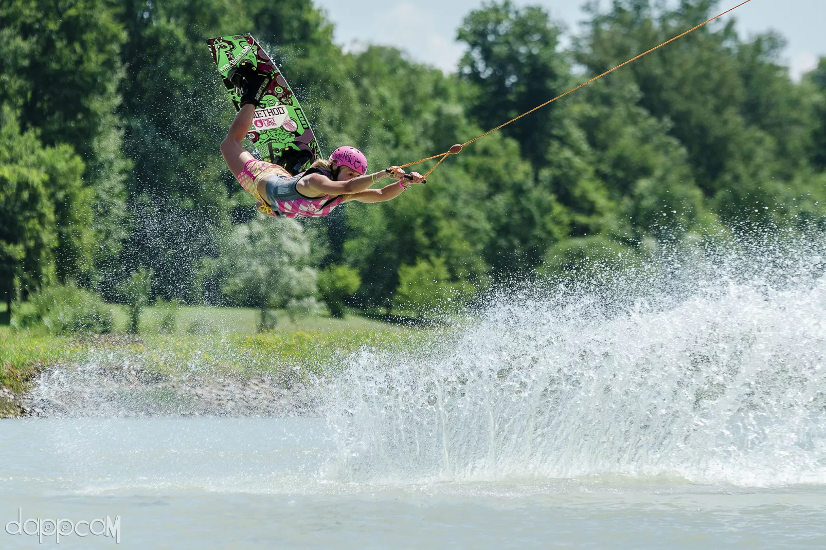
[{"label": "tall dark green tree filling the upper left corner", "polygon": [[[69,145],[83,160],[83,183],[92,191],[81,193],[82,199],[61,198],[92,209],[93,218],[84,215],[82,223],[93,238],[75,235],[74,241],[94,242],[98,264],[112,258],[125,235],[123,178],[128,166],[116,116],[124,39],[107,0],[0,4],[0,103],[18,113],[24,130],[39,129],[45,145]],[[53,164],[54,185],[60,185],[58,172],[64,168],[74,173],[76,166]],[[64,236],[77,231],[71,228],[80,221],[77,208],[61,207],[56,214]],[[86,248],[61,245],[60,276],[91,282],[88,254]]]}]

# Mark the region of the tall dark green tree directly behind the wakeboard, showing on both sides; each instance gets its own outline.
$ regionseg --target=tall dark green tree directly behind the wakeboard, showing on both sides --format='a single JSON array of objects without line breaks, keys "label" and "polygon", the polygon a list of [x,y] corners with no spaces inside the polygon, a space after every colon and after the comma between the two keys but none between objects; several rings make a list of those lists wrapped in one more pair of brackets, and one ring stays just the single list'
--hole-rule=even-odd
[{"label": "tall dark green tree directly behind the wakeboard, showing on both sides", "polygon": [[218,151],[234,109],[204,40],[253,31],[274,59],[289,59],[287,76],[302,101],[320,89],[335,98],[330,69],[343,55],[329,23],[301,0],[243,7],[233,0],[127,0],[118,18],[127,35],[121,112],[134,168],[126,183],[132,230],[112,278],[146,266],[160,296],[201,301],[202,264],[230,232],[230,211],[251,210]]}]

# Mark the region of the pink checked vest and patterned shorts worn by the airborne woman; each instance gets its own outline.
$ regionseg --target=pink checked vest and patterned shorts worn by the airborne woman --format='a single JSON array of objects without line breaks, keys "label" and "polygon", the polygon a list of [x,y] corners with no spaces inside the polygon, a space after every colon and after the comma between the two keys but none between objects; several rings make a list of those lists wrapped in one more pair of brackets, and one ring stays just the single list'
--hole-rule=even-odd
[{"label": "pink checked vest and patterned shorts worn by the airborne woman", "polygon": [[[258,211],[266,216],[295,216],[321,217],[330,214],[336,206],[341,204],[344,197],[325,195],[324,197],[304,197],[297,192],[296,184],[306,173],[321,172],[317,168],[310,168],[293,176],[278,164],[271,164],[263,160],[249,159],[244,163],[244,169],[235,175],[241,187],[258,200]],[[259,192],[259,182],[265,181],[265,192]]]}]

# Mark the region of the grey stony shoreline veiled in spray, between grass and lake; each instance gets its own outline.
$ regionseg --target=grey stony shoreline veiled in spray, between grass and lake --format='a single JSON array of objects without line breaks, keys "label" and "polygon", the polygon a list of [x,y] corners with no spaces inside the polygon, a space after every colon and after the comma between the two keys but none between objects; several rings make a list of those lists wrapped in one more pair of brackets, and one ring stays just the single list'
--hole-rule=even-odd
[{"label": "grey stony shoreline veiled in spray, between grass and lake", "polygon": [[311,387],[285,377],[55,363],[30,383],[0,387],[0,418],[318,415]]}]

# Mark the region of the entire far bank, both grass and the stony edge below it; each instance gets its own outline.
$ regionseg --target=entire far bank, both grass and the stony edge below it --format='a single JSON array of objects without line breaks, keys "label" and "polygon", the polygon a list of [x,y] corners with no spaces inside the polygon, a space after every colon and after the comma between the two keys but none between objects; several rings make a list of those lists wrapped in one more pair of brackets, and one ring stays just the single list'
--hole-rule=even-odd
[{"label": "entire far bank, both grass and the stony edge below it", "polygon": [[0,330],[0,418],[316,415],[313,381],[354,353],[420,347],[420,329],[382,329],[80,338]]}]

